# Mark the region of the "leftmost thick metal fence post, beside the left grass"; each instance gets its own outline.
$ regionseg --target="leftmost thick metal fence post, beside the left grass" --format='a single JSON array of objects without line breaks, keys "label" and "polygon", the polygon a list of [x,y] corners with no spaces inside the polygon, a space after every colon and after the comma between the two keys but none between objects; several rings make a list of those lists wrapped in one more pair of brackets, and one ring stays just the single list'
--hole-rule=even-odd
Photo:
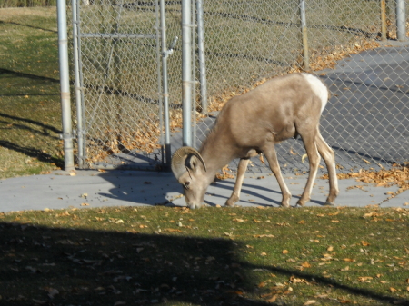
[{"label": "leftmost thick metal fence post, beside the left grass", "polygon": [[66,29],[65,0],[57,0],[58,23],[58,59],[60,66],[61,111],[64,140],[65,171],[72,171],[74,166],[73,128],[71,123],[70,80],[68,68],[68,40]]}]

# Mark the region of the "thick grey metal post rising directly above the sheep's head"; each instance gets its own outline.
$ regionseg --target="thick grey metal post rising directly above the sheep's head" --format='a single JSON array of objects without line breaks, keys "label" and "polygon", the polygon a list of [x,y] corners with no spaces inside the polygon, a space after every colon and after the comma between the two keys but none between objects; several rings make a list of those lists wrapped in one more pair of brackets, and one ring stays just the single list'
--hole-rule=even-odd
[{"label": "thick grey metal post rising directly above the sheep's head", "polygon": [[191,0],[182,0],[183,145],[192,145],[192,31]]}]

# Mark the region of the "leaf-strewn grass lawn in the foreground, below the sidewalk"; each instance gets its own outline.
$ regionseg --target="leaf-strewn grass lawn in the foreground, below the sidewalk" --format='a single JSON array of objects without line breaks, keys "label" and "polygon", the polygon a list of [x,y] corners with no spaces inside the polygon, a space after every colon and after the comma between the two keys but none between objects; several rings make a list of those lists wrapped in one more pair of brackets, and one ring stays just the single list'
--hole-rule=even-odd
[{"label": "leaf-strewn grass lawn in the foreground, below the sidewalk", "polygon": [[407,305],[409,210],[0,215],[7,305]]}]

